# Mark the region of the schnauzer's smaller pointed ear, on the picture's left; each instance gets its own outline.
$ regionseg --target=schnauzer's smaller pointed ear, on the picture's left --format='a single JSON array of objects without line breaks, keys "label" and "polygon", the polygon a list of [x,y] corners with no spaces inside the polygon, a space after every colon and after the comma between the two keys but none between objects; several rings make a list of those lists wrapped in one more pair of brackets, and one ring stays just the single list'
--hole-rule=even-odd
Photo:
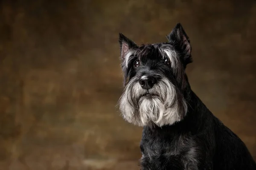
[{"label": "schnauzer's smaller pointed ear, on the picture's left", "polygon": [[137,45],[132,41],[129,40],[127,37],[125,37],[122,33],[119,33],[119,44],[120,44],[120,53],[121,53],[121,59],[125,59],[125,54],[134,47],[137,47]]}]

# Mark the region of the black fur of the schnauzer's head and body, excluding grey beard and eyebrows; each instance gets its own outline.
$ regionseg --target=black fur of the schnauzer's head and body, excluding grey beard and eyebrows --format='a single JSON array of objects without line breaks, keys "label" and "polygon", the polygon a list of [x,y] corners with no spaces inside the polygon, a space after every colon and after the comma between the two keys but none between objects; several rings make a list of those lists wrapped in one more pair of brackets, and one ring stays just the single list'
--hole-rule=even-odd
[{"label": "black fur of the schnauzer's head and body, excluding grey beard and eyebrows", "polygon": [[[256,170],[244,142],[216,118],[190,88],[185,68],[192,62],[191,46],[181,24],[177,24],[167,39],[168,42],[139,47],[119,34],[121,54],[123,43],[134,51],[128,66],[124,63],[125,55],[121,57],[125,85],[143,74],[151,74],[159,81],[167,77],[177,89],[176,100],[182,105],[181,99],[184,99],[188,106],[186,114],[178,110],[182,119],[172,125],[159,127],[151,122],[143,127],[141,170]],[[176,51],[177,68],[163,62],[157,50],[163,46]],[[133,67],[137,59],[141,62],[140,68]],[[137,101],[132,102],[136,105]]]}]

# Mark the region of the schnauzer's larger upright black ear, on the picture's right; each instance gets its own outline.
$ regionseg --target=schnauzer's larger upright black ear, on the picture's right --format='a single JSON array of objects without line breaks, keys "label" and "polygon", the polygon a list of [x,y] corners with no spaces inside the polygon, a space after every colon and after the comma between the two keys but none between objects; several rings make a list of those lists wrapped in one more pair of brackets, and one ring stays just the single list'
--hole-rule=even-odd
[{"label": "schnauzer's larger upright black ear, on the picture's right", "polygon": [[190,40],[180,23],[177,23],[175,28],[173,28],[172,32],[169,35],[167,35],[166,38],[168,42],[177,43],[177,45],[180,48],[181,54],[183,54],[181,57],[182,57],[183,64],[185,66],[192,62],[192,57],[191,57],[192,49],[190,45]]}]

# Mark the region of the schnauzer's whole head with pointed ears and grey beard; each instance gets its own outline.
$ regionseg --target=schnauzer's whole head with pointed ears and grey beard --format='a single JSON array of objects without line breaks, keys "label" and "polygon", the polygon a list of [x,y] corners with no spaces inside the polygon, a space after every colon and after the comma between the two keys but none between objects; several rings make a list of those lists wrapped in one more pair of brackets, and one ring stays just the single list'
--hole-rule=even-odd
[{"label": "schnauzer's whole head with pointed ears and grey beard", "polygon": [[172,125],[186,116],[190,42],[179,23],[167,39],[138,46],[119,34],[125,85],[119,109],[134,125]]}]

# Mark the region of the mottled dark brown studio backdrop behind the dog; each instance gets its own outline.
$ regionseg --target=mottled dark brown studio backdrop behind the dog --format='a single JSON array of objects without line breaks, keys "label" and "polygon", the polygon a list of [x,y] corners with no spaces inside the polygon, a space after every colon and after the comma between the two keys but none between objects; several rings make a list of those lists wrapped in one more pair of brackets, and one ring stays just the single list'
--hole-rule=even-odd
[{"label": "mottled dark brown studio backdrop behind the dog", "polygon": [[115,108],[118,33],[166,41],[177,22],[192,89],[256,159],[256,1],[2,0],[0,169],[136,170],[142,129]]}]

